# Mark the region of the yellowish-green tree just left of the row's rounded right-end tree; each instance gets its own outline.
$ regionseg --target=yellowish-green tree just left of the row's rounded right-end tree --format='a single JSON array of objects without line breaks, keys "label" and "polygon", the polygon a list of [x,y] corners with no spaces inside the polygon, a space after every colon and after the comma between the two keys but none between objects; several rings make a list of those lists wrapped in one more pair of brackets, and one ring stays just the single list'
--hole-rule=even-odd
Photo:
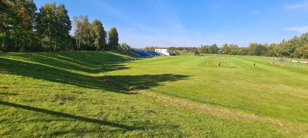
[{"label": "yellowish-green tree just left of the row's rounded right-end tree", "polygon": [[91,36],[94,40],[96,51],[103,49],[106,45],[106,32],[100,20],[93,20],[91,25]]}]

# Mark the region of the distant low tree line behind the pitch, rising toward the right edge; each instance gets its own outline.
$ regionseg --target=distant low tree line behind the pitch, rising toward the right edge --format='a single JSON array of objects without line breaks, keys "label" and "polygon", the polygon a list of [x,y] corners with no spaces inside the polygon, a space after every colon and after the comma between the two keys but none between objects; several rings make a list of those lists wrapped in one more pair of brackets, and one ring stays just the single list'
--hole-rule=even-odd
[{"label": "distant low tree line behind the pitch, rising toward the right edge", "polygon": [[248,47],[239,47],[237,44],[225,43],[221,48],[217,44],[201,45],[201,47],[145,47],[144,51],[154,51],[155,49],[168,49],[173,53],[200,53],[205,54],[227,54],[227,55],[252,55],[252,56],[270,56],[270,57],[308,57],[308,33],[300,37],[294,36],[292,39],[280,43],[249,43]]}]

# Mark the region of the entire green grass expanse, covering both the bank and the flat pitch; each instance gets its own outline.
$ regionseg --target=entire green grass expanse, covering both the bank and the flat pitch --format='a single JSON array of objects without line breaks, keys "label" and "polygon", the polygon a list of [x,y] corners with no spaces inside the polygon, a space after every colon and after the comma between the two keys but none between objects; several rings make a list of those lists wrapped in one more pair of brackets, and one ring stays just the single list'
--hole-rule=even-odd
[{"label": "entire green grass expanse, covering both the bank and the flat pitch", "polygon": [[[208,67],[209,59],[237,67]],[[271,57],[0,54],[0,137],[307,137],[308,68],[265,61]],[[141,85],[257,106],[261,113]]]}]

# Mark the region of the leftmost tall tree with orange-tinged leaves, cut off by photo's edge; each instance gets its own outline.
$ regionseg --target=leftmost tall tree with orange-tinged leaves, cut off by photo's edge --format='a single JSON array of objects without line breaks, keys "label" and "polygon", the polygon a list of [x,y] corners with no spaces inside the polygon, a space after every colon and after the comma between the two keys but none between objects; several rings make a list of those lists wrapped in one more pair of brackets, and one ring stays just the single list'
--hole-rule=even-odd
[{"label": "leftmost tall tree with orange-tinged leaves, cut off by photo's edge", "polygon": [[36,43],[33,1],[1,1],[0,9],[0,49],[5,52],[31,50],[29,45]]}]

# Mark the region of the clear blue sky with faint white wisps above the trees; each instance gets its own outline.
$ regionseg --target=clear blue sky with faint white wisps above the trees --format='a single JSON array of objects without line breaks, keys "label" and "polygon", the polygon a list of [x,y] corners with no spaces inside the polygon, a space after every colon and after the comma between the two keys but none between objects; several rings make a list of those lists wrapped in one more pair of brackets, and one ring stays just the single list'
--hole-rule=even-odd
[{"label": "clear blue sky with faint white wisps above the trees", "polygon": [[134,48],[200,47],[224,43],[279,43],[308,32],[308,1],[34,0],[64,4],[68,15],[116,27],[119,42]]}]

